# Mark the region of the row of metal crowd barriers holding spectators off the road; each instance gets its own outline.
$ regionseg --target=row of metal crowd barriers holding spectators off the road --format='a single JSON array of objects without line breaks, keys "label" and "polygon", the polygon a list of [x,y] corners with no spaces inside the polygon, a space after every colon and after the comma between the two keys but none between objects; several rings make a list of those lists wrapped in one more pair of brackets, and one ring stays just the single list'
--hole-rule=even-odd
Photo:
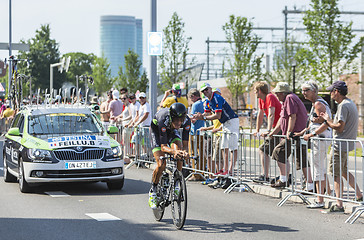
[{"label": "row of metal crowd barriers holding spectators off the road", "polygon": [[[119,134],[123,135],[118,139],[121,139],[124,156],[131,159],[127,168],[134,164],[139,166],[141,163],[155,162],[150,146],[149,128],[126,128],[124,130],[120,128]],[[251,133],[241,131],[238,136],[238,148],[235,152],[231,152],[229,148],[224,148],[221,145],[222,140],[231,137],[229,136],[231,134],[204,131],[200,135],[190,136],[190,153],[196,158],[196,161],[184,166],[184,169],[191,171],[187,178],[195,174],[203,177],[228,177],[232,180],[232,184],[225,190],[225,193],[239,187],[253,191],[247,183],[264,173],[269,180],[277,180],[276,176],[279,176],[280,172],[277,164],[275,164],[276,161],[266,156],[271,156],[274,153],[274,147],[286,136],[275,135],[268,139],[260,136],[255,137]],[[259,148],[263,143],[266,146],[272,146]],[[353,151],[343,151],[351,145],[354,147]],[[314,137],[307,143],[301,137],[292,142],[285,141],[282,148],[285,149],[284,160],[288,169],[287,180],[290,172],[291,183],[290,187],[286,187],[290,194],[283,198],[278,206],[283,206],[292,196],[300,197],[304,203],[309,204],[310,202],[303,194],[359,204],[355,198],[356,195],[362,193],[364,188],[364,154],[361,141]],[[336,154],[330,154],[334,149]],[[299,161],[296,161],[297,157]],[[334,161],[335,159],[337,160]],[[262,160],[267,160],[264,161],[265,168],[262,167]],[[304,168],[305,172],[298,167],[304,166],[304,161],[309,164]],[[330,171],[330,162],[333,162],[332,171]],[[222,171],[227,171],[228,174],[222,175]],[[348,176],[349,179],[352,179],[350,184],[349,182],[344,184],[342,181],[337,181],[336,189],[340,189],[340,195],[334,193],[334,175],[337,178]],[[309,191],[310,189],[307,188],[309,182],[316,182],[316,191]],[[350,188],[350,185],[353,188]],[[362,202],[352,213],[347,222],[355,222],[364,212],[363,204]]]}]

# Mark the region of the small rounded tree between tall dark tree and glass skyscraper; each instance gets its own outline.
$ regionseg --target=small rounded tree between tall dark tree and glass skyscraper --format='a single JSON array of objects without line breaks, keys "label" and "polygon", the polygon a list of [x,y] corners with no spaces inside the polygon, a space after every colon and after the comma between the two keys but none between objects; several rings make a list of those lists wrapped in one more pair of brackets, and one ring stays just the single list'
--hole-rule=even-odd
[{"label": "small rounded tree between tall dark tree and glass skyscraper", "polygon": [[[85,54],[81,52],[66,53],[62,57],[71,57],[70,66],[66,73],[66,82],[71,82],[76,85],[76,76],[83,74],[92,75],[92,64],[96,59],[93,53]],[[83,87],[84,83],[79,82],[79,87]]]}]

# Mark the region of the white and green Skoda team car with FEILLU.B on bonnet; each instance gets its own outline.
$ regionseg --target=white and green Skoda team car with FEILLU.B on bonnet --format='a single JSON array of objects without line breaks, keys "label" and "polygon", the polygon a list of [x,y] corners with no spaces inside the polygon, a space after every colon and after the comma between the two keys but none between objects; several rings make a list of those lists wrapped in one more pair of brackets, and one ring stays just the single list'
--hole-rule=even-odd
[{"label": "white and green Skoda team car with FEILLU.B on bonnet", "polygon": [[21,192],[49,182],[103,181],[124,186],[122,148],[84,105],[34,105],[14,117],[3,145],[4,181]]}]

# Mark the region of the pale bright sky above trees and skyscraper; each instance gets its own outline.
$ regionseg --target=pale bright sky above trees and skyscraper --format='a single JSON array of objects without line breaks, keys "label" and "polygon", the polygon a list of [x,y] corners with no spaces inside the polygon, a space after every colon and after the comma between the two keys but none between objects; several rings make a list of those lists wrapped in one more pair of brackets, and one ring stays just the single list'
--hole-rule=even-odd
[{"label": "pale bright sky above trees and skyscraper", "polygon": [[[8,42],[8,3],[1,0],[0,42]],[[158,30],[162,30],[177,12],[185,22],[187,36],[191,36],[193,53],[206,52],[205,41],[225,40],[222,25],[229,15],[244,16],[259,27],[283,27],[282,10],[308,9],[308,0],[157,0]],[[340,9],[364,11],[363,0],[340,1]],[[144,67],[149,69],[146,55],[146,34],[150,30],[150,0],[12,0],[13,42],[29,39],[41,24],[50,24],[51,37],[60,44],[62,54],[85,52],[99,55],[99,26],[101,15],[131,15],[143,19]],[[348,16],[354,27],[364,29],[364,16]],[[292,16],[290,26],[299,26],[299,16]],[[283,37],[283,32],[259,32],[263,40]],[[0,59],[8,52],[1,50]]]}]

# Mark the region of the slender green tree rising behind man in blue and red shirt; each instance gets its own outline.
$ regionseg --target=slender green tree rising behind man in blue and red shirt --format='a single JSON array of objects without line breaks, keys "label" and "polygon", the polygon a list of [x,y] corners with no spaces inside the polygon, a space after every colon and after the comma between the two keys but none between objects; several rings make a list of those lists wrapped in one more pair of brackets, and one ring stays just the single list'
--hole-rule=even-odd
[{"label": "slender green tree rising behind man in blue and red shirt", "polygon": [[[260,38],[253,34],[253,24],[245,17],[231,15],[223,25],[226,39],[233,53],[228,59],[230,69],[226,72],[227,85],[238,107],[239,96],[252,81],[262,77],[261,56],[255,56]],[[242,98],[245,106],[245,99]]]}]

